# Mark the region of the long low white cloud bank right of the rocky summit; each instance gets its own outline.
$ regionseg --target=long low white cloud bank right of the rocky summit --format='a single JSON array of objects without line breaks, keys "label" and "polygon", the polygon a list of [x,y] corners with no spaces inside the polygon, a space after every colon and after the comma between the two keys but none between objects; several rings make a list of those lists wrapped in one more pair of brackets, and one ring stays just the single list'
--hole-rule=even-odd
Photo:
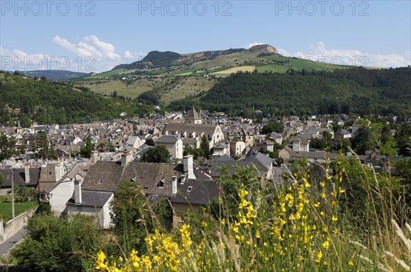
[{"label": "long low white cloud bank right of the rocky summit", "polygon": [[397,54],[373,54],[361,52],[357,49],[327,49],[323,42],[312,44],[308,51],[288,53],[284,49],[278,49],[278,53],[286,57],[301,57],[302,59],[318,60],[319,62],[345,64],[349,66],[374,66],[374,67],[403,67],[411,64],[410,51],[404,55]]}]

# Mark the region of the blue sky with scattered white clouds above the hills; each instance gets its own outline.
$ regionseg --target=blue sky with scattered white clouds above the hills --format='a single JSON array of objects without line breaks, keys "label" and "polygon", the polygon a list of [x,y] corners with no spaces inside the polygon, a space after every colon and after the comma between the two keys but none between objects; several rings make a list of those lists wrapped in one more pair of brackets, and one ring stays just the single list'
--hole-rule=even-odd
[{"label": "blue sky with scattered white clouds above the hills", "polygon": [[150,51],[270,44],[285,56],[411,64],[411,1],[5,1],[0,70],[103,72]]}]

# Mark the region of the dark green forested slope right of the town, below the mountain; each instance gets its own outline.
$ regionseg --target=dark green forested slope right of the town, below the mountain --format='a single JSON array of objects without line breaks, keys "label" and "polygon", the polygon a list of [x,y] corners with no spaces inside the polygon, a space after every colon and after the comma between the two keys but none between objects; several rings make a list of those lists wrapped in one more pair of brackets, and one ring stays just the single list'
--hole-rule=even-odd
[{"label": "dark green forested slope right of the town, below the mountain", "polygon": [[411,68],[231,74],[207,93],[171,103],[251,117],[251,109],[271,115],[358,113],[411,115]]}]

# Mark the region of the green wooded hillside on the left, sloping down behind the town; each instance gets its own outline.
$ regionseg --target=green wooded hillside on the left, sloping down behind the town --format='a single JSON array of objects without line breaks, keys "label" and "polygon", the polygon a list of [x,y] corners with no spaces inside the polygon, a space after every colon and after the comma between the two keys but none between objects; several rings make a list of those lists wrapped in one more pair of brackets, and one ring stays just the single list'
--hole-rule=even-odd
[{"label": "green wooded hillside on the left, sloping down behind the town", "polygon": [[29,126],[32,121],[70,124],[112,120],[122,112],[142,116],[151,109],[123,96],[101,96],[86,87],[79,90],[45,77],[31,79],[7,72],[0,72],[0,94],[0,123],[20,121],[21,126]]}]

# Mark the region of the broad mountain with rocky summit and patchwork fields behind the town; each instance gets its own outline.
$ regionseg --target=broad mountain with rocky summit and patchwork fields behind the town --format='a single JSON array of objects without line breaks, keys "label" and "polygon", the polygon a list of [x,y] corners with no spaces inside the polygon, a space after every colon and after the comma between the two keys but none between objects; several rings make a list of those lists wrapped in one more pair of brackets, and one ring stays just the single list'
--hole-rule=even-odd
[{"label": "broad mountain with rocky summit and patchwork fields behind the town", "polygon": [[[260,44],[249,49],[225,49],[179,54],[151,51],[132,64],[121,64],[108,72],[73,79],[74,85],[90,88],[99,94],[114,90],[135,99],[155,96],[155,101],[169,105],[173,101],[203,96],[221,79],[236,72],[286,74],[291,70],[334,72],[353,66],[327,64],[311,59],[284,57],[274,46]],[[366,69],[368,70],[368,68]],[[196,98],[198,99],[198,98]]]}]

